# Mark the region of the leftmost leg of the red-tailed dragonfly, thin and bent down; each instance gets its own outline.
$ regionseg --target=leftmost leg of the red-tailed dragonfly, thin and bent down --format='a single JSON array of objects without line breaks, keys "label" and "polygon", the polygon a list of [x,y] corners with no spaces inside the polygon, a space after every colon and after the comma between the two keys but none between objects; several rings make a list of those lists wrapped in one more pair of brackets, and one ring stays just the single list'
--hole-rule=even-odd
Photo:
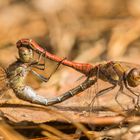
[{"label": "leftmost leg of the red-tailed dragonfly, thin and bent down", "polygon": [[102,96],[103,94],[106,94],[107,92],[113,90],[115,87],[116,87],[116,85],[113,85],[113,86],[110,86],[110,87],[108,87],[108,88],[106,88],[106,89],[103,89],[103,90],[99,91],[99,92],[94,96],[94,98],[92,99],[92,101],[91,101],[90,104],[89,104],[90,112],[93,111],[93,110],[92,110],[92,106],[93,106],[94,103],[95,103],[95,99],[98,98],[99,96]]}]

